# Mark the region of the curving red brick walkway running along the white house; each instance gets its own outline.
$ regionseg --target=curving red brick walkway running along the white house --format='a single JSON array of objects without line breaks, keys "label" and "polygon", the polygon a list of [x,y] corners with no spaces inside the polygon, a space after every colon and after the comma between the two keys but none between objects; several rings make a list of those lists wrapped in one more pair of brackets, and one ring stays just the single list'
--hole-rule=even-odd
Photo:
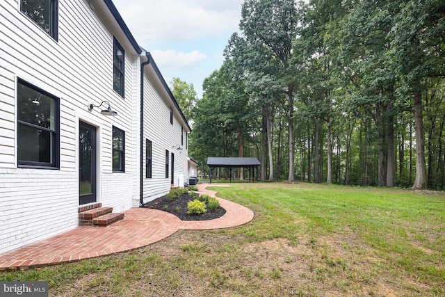
[{"label": "curving red brick walkway running along the white house", "polygon": [[[200,193],[214,196],[216,192],[207,190],[206,186],[208,184],[198,185]],[[235,227],[252,220],[254,214],[250,209],[221,198],[218,200],[226,213],[215,220],[184,221],[156,209],[129,209],[124,211],[124,220],[108,227],[77,227],[69,232],[0,255],[0,271],[110,255],[147,246],[165,239],[178,230]]]}]

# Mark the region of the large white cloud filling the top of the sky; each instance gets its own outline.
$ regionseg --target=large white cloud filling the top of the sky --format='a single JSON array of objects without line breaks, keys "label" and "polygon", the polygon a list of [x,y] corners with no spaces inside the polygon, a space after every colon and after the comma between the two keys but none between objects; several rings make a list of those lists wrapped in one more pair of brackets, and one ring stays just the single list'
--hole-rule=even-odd
[{"label": "large white cloud filling the top of the sky", "polygon": [[141,45],[238,30],[243,0],[115,0]]}]

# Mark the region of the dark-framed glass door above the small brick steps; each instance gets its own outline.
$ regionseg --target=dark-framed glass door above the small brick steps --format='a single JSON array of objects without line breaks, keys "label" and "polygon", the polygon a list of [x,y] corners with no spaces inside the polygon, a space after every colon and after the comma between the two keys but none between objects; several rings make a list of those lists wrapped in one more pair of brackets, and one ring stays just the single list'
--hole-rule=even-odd
[{"label": "dark-framed glass door above the small brick steps", "polygon": [[96,202],[96,127],[79,123],[79,204]]}]

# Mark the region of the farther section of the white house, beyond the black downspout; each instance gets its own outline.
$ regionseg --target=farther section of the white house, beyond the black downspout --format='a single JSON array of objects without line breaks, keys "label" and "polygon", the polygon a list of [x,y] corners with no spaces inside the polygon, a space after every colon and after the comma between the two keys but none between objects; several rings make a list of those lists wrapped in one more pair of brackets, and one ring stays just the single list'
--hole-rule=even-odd
[{"label": "farther section of the white house, beyond the black downspout", "polygon": [[[147,53],[143,67],[143,141],[145,175],[143,202],[159,198],[170,186],[183,187],[188,178],[187,148],[191,128],[170,92],[152,55]],[[145,177],[145,178],[144,178]]]}]

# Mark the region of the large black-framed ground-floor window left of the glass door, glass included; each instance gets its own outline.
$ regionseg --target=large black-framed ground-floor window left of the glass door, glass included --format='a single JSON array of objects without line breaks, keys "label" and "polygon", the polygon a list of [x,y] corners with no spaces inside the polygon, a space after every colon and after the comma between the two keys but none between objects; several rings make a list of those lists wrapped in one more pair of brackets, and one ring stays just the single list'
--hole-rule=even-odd
[{"label": "large black-framed ground-floor window left of the glass door, glass included", "polygon": [[19,167],[59,167],[59,99],[17,81],[17,159]]}]

